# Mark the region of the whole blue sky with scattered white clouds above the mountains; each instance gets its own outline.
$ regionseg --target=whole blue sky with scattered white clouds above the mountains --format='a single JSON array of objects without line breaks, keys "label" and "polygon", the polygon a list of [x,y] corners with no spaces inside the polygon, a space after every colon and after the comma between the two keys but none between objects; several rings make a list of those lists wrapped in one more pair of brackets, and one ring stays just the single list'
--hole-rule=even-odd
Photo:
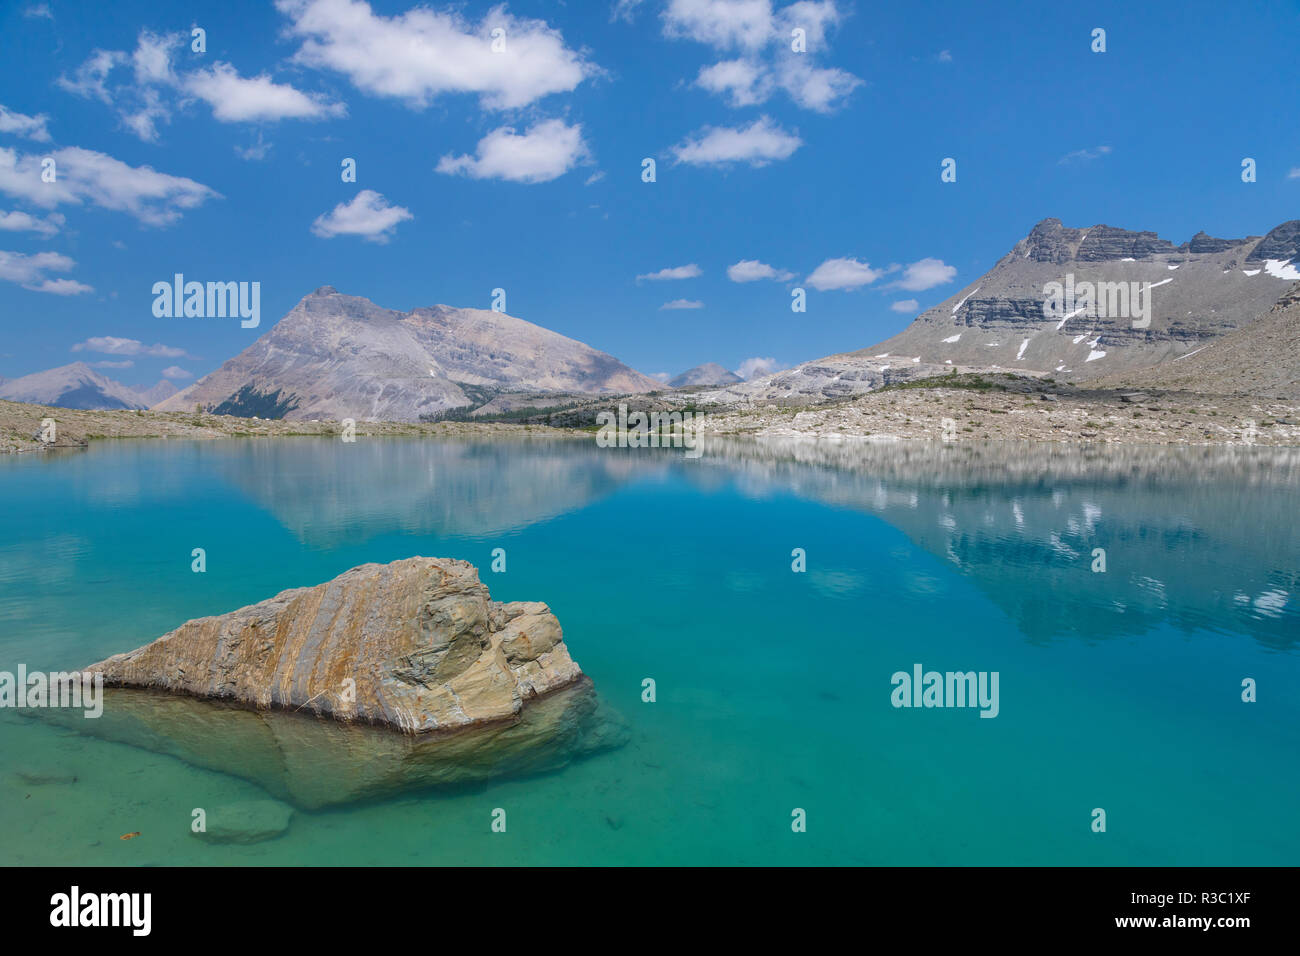
[{"label": "whole blue sky with scattered white clouds above the mountains", "polygon": [[[1048,216],[1300,216],[1297,48],[1295,3],[4,0],[0,375],[185,386],[322,285],[650,375],[863,347]],[[155,317],[177,272],[261,328]]]}]

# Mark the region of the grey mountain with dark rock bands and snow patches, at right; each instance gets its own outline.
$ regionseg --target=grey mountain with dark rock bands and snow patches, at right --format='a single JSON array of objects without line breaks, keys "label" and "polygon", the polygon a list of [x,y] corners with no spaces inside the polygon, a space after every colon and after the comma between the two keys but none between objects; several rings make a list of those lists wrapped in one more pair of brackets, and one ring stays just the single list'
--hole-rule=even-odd
[{"label": "grey mountain with dark rock bands and snow patches, at right", "polygon": [[[1197,233],[1174,246],[1150,232],[1071,229],[1045,219],[989,272],[893,338],[701,398],[811,403],[953,368],[1066,380],[1131,372],[1174,362],[1247,326],[1296,280],[1300,220],[1262,238]],[[1100,315],[1089,315],[1082,295],[1069,300],[1065,290],[1082,291],[1083,284],[1093,286]],[[1060,308],[1048,315],[1053,294]]]}]

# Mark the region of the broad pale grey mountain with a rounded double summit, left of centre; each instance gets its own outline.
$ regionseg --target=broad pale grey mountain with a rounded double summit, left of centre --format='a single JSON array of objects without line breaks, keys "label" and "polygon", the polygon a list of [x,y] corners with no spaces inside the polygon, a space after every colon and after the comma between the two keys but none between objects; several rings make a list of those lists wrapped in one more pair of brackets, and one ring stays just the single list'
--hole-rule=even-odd
[{"label": "broad pale grey mountain with a rounded double summit, left of centre", "polygon": [[324,286],[239,355],[157,407],[415,421],[504,392],[662,388],[611,355],[502,312],[450,306],[395,312]]}]

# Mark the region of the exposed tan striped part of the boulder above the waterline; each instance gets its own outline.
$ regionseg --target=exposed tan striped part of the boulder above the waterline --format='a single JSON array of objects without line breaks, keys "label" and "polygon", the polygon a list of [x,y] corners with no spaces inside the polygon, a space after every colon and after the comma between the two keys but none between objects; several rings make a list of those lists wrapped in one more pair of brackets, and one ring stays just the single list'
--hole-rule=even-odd
[{"label": "exposed tan striped part of the boulder above the waterline", "polygon": [[406,734],[508,721],[582,676],[559,620],[493,601],[473,564],[363,564],[315,588],[188,620],[84,670],[136,687],[361,721]]}]

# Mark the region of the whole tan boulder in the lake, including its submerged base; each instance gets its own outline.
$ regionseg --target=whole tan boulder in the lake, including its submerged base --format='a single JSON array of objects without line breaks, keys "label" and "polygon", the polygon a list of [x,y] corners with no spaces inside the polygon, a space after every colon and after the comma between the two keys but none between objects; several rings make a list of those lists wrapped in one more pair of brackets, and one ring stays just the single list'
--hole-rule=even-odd
[{"label": "whole tan boulder in the lake, including its submerged base", "polygon": [[83,670],[109,689],[79,728],[306,808],[552,770],[625,734],[545,604],[493,601],[442,558],[363,564]]}]

